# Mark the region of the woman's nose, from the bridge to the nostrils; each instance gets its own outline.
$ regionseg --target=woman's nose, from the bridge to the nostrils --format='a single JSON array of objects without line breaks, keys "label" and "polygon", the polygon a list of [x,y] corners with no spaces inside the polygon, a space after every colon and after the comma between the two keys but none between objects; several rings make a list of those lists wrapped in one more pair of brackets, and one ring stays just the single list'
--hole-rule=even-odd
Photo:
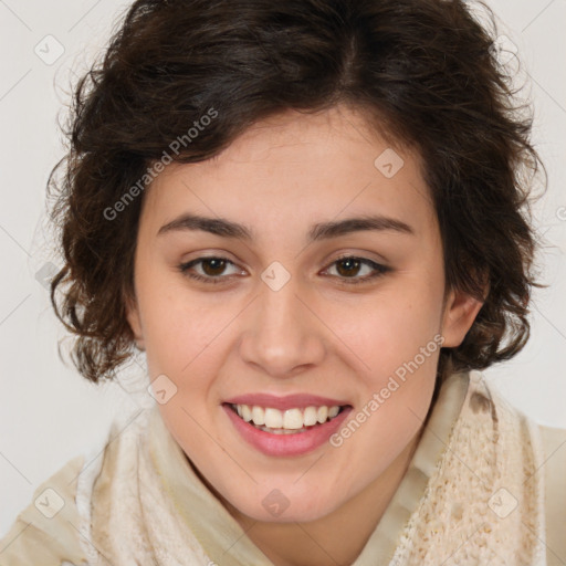
[{"label": "woman's nose, from the bridge to the nostrils", "polygon": [[[311,303],[311,304],[310,304]],[[272,377],[293,377],[324,358],[324,324],[294,277],[279,291],[268,285],[250,305],[240,342],[242,359]]]}]

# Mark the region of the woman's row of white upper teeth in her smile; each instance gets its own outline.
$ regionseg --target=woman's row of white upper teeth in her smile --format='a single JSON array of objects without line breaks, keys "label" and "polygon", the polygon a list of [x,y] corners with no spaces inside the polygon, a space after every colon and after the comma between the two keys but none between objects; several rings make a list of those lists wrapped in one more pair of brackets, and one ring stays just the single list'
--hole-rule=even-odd
[{"label": "woman's row of white upper teeth in her smile", "polygon": [[338,415],[340,408],[335,405],[333,407],[306,407],[305,409],[286,409],[280,411],[271,407],[263,408],[249,405],[232,405],[238,411],[238,415],[245,421],[253,421],[254,424],[261,427],[265,426],[270,429],[290,429],[298,430],[303,427],[312,427],[317,422],[326,422],[328,418],[334,418]]}]

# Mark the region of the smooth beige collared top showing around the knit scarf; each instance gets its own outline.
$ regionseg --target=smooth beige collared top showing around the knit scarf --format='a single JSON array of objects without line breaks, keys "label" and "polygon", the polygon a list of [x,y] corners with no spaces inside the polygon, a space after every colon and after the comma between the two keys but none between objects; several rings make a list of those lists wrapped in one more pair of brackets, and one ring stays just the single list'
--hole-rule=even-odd
[{"label": "smooth beige collared top showing around the knit scarf", "polygon": [[[475,371],[471,374],[475,380],[481,379],[481,374]],[[423,501],[427,489],[430,489],[431,476],[434,481],[438,480],[439,463],[447,461],[447,454],[457,455],[458,439],[454,440],[452,434],[457,424],[464,419],[464,406],[472,412],[489,412],[490,407],[492,413],[493,407],[496,407],[500,415],[504,412],[500,407],[501,400],[496,396],[491,397],[493,405],[490,406],[486,397],[471,390],[470,382],[470,374],[454,374],[443,384],[407,473],[353,566],[421,564],[400,558],[400,555],[411,556],[407,539],[418,532],[418,524],[412,527],[411,521],[427,512]],[[488,390],[485,392],[489,395]],[[147,461],[153,467],[156,482],[160,483],[159,489],[171,502],[170,513],[180,517],[179,521],[195,535],[207,557],[222,566],[272,566],[272,563],[196,475],[181,448],[167,430],[158,407],[155,406],[145,412],[147,428],[140,428],[139,433],[147,431],[148,441],[142,444],[147,447]],[[566,564],[566,430],[536,426],[518,411],[515,411],[515,415],[520,416],[521,422],[526,423],[525,430],[532,427],[533,430],[541,432],[546,562],[537,562],[537,564],[564,565]],[[465,427],[462,430],[467,430]],[[107,541],[107,549],[105,547],[105,528],[111,533],[113,528],[104,510],[114,509],[111,505],[112,488],[116,484],[116,470],[122,470],[116,463],[119,441],[119,439],[112,441],[108,439],[106,449],[101,455],[99,470],[96,471],[93,482],[92,502],[94,503],[86,503],[88,507],[92,505],[88,513],[92,512],[93,533],[88,536],[96,541],[96,548],[103,556],[106,556],[106,552],[112,556],[114,552],[109,541]],[[77,482],[81,475],[86,474],[88,465],[91,462],[85,455],[76,457],[35,490],[32,503],[18,515],[11,530],[0,541],[1,566],[92,564],[87,562],[91,543],[86,542],[84,536],[81,541],[80,534],[85,516],[85,502],[76,500]],[[91,473],[92,469],[91,467]],[[538,479],[543,480],[541,472],[542,469],[538,471]],[[535,473],[532,475],[536,476]],[[472,507],[473,502],[469,503]],[[457,511],[462,515],[461,509]],[[544,523],[544,518],[541,523]],[[539,538],[544,538],[544,534]],[[224,548],[229,548],[229,552],[227,553]],[[501,554],[501,548],[499,552]],[[406,562],[402,562],[403,559]],[[113,564],[118,566],[120,563]],[[136,564],[139,563],[136,562]],[[166,563],[154,559],[147,564]],[[197,563],[186,562],[186,564]],[[463,564],[483,563],[465,562]],[[503,562],[503,564],[511,564],[511,562]],[[145,563],[144,566],[146,566]]]}]

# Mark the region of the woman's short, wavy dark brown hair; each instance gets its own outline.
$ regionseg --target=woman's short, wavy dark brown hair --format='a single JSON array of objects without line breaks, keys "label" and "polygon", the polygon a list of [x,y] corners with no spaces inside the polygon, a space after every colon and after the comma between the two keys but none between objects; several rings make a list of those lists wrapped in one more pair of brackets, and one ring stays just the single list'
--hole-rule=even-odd
[{"label": "woman's short, wavy dark brown hair", "polygon": [[441,349],[439,380],[520,352],[532,286],[543,286],[532,274],[530,192],[544,166],[528,106],[514,103],[497,62],[495,18],[481,7],[485,23],[459,0],[134,2],[73,87],[69,151],[48,180],[64,258],[51,301],[75,335],[80,373],[112,379],[135,352],[126,301],[140,179],[154,165],[201,161],[258,120],[338,104],[417,149],[447,289],[484,301],[462,344]]}]

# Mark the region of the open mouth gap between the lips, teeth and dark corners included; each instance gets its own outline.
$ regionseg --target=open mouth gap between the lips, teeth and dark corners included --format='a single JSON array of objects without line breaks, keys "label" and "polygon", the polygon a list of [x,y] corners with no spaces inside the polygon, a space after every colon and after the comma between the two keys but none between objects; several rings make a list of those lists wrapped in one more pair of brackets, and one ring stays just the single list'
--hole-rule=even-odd
[{"label": "open mouth gap between the lips, teeth and dark corners included", "polygon": [[242,421],[270,434],[301,434],[338,418],[349,405],[319,405],[280,410],[258,405],[223,403]]}]

